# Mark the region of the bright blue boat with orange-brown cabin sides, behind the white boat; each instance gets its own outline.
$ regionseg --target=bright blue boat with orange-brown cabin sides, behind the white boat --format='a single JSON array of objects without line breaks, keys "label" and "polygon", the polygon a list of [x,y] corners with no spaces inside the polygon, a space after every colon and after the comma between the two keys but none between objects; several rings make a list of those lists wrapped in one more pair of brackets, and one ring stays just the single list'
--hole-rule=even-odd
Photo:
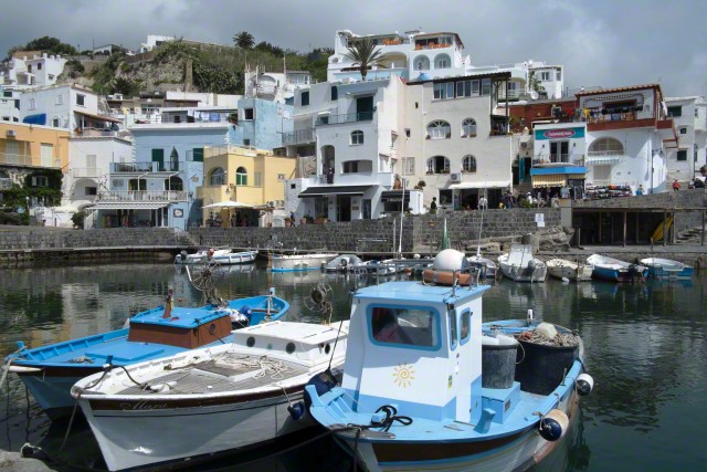
[{"label": "bright blue boat with orange-brown cabin sides, behind the white boat", "polygon": [[123,329],[32,349],[19,343],[20,350],[6,357],[3,368],[18,374],[44,412],[56,419],[71,415],[71,387],[104,364],[128,366],[230,343],[234,327],[276,321],[288,310],[273,291],[198,308],[171,307],[168,301],[133,316]]}]

